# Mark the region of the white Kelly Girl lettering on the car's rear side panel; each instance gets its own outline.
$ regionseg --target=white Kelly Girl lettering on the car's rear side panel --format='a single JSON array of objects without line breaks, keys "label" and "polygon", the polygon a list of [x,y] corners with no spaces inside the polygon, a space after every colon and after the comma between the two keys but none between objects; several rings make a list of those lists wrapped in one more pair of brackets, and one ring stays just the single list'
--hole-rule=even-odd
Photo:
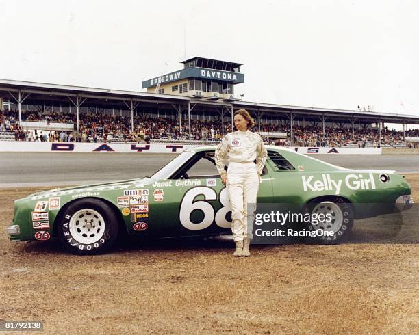
[{"label": "white Kelly Girl lettering on the car's rear side panel", "polygon": [[372,173],[368,174],[368,178],[364,177],[363,174],[348,174],[344,180],[333,179],[330,174],[321,174],[318,179],[314,176],[302,176],[303,189],[307,191],[335,191],[335,194],[340,193],[342,183],[345,183],[348,189],[357,191],[358,189],[375,189],[374,176]]}]

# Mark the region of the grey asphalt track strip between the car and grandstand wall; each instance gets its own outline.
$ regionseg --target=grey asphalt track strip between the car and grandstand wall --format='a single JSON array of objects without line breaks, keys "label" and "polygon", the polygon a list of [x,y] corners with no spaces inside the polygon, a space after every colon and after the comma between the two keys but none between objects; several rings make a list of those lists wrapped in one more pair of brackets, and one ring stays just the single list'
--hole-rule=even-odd
[{"label": "grey asphalt track strip between the car and grandstand wall", "polygon": [[[418,173],[419,155],[312,155],[348,168]],[[0,152],[0,187],[77,185],[150,176],[174,154]]]}]

